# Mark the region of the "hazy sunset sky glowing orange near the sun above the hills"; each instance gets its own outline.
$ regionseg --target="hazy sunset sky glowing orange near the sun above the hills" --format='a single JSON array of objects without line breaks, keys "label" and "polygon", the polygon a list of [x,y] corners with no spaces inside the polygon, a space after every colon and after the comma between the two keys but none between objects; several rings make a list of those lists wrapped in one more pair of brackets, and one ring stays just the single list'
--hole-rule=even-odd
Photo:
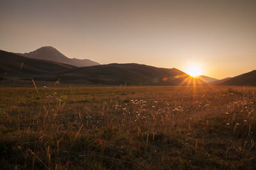
[{"label": "hazy sunset sky glowing orange near the sun above the hills", "polygon": [[226,78],[256,69],[256,1],[1,0],[0,49],[53,46],[100,64],[191,65]]}]

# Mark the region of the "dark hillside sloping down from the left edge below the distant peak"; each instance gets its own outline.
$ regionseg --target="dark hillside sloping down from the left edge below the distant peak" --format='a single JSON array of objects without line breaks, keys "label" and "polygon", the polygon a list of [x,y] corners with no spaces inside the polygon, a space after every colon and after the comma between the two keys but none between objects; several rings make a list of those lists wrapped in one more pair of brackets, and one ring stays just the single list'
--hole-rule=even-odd
[{"label": "dark hillside sloping down from the left edge below the distant peak", "polygon": [[50,60],[37,60],[23,57],[11,52],[0,50],[0,73],[12,74],[17,76],[19,74],[47,74],[55,71],[63,71],[65,69],[72,69],[75,66],[54,62]]}]

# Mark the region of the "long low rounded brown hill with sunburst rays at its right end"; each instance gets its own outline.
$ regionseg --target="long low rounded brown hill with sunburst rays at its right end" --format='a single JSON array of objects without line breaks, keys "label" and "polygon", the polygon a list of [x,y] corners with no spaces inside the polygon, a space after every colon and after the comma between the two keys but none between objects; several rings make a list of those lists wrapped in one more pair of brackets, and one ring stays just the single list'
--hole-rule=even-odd
[{"label": "long low rounded brown hill with sunburst rays at its right end", "polygon": [[[106,64],[90,67],[76,67],[60,71],[49,77],[68,83],[89,83],[105,85],[188,85],[193,78],[179,69],[165,69],[144,64]],[[201,80],[195,83],[204,85]]]}]

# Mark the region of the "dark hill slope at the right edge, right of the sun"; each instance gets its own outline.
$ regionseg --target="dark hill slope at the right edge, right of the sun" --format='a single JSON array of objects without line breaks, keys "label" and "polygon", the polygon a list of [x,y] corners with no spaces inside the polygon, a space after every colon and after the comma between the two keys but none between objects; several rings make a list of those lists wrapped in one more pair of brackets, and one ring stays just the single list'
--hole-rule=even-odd
[{"label": "dark hill slope at the right edge, right of the sun", "polygon": [[218,85],[256,85],[256,70],[230,78]]}]

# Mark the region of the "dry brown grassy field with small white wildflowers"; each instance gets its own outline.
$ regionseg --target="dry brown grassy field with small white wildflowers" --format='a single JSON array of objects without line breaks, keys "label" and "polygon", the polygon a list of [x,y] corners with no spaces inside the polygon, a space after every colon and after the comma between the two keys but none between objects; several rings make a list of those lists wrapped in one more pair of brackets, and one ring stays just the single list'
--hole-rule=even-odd
[{"label": "dry brown grassy field with small white wildflowers", "polygon": [[253,169],[254,87],[0,88],[3,169]]}]

